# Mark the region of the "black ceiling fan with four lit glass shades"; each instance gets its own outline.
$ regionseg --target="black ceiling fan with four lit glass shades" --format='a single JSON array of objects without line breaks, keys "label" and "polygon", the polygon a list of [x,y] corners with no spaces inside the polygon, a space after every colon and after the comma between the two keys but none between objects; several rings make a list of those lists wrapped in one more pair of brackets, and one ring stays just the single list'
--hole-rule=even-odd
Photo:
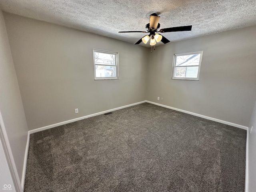
[{"label": "black ceiling fan with four lit glass shades", "polygon": [[142,37],[140,40],[134,43],[134,45],[140,44],[141,42],[143,42],[144,44],[147,44],[148,40],[150,40],[150,45],[154,46],[156,42],[161,41],[164,44],[170,42],[164,36],[158,33],[156,34],[156,32],[166,33],[166,32],[175,32],[175,31],[191,31],[192,29],[192,25],[188,25],[188,26],[164,28],[159,30],[160,28],[160,23],[158,23],[159,19],[160,19],[160,16],[157,16],[156,13],[153,13],[149,17],[149,23],[146,24],[146,31],[119,31],[118,33],[149,33],[149,35]]}]

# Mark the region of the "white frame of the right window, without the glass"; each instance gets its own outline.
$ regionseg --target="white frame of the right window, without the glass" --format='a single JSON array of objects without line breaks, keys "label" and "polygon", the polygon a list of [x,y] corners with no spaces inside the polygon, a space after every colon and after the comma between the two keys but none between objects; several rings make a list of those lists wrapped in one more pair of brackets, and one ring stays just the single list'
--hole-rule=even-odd
[{"label": "white frame of the right window, without the glass", "polygon": [[[192,54],[200,54],[200,60],[198,65],[190,65],[190,66],[176,66],[176,56],[183,56],[183,55],[192,55]],[[200,74],[200,67],[201,67],[201,62],[202,62],[202,56],[203,56],[203,51],[194,51],[194,52],[186,52],[186,53],[178,53],[174,54],[173,56],[173,63],[172,63],[172,79],[178,79],[178,80],[199,80],[199,74]],[[197,78],[186,78],[186,77],[175,77],[175,68],[176,67],[196,67],[198,66],[198,72],[197,72]]]}]

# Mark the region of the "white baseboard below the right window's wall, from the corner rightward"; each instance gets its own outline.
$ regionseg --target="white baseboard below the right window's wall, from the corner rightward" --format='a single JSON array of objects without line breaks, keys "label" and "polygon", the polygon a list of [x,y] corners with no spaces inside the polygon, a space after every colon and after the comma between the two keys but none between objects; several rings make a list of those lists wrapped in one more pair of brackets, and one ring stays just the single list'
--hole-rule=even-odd
[{"label": "white baseboard below the right window's wall, from the corner rightward", "polygon": [[238,125],[238,124],[227,122],[227,121],[224,121],[224,120],[220,120],[220,119],[216,119],[216,118],[200,115],[200,114],[197,114],[197,113],[185,111],[185,110],[182,110],[182,109],[170,107],[170,106],[167,106],[167,105],[162,105],[162,104],[151,102],[151,101],[146,101],[146,102],[154,104],[154,105],[158,105],[158,106],[161,106],[161,107],[165,107],[165,108],[168,108],[168,109],[172,109],[172,110],[180,111],[180,112],[183,112],[183,113],[187,113],[187,114],[190,114],[190,115],[194,115],[194,116],[197,116],[197,117],[201,117],[201,118],[204,118],[204,119],[208,119],[208,120],[212,120],[212,121],[215,121],[215,122],[219,122],[219,123],[223,123],[223,124],[226,124],[226,125],[230,125],[230,126],[233,126],[233,127],[241,128],[241,129],[244,129],[244,130],[248,129],[248,127],[246,127],[246,126]]}]

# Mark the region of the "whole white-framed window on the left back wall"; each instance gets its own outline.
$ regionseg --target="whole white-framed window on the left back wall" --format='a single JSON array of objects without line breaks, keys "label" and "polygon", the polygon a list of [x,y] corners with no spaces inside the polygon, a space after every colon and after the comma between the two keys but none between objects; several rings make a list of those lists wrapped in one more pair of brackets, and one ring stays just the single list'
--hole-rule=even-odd
[{"label": "whole white-framed window on the left back wall", "polygon": [[118,79],[118,53],[93,49],[94,79]]}]

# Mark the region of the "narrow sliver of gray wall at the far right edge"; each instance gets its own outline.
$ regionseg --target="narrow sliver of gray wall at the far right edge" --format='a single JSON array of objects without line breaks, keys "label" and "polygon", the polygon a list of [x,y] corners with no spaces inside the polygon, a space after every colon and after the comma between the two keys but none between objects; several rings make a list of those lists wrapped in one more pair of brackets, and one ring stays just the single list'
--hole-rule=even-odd
[{"label": "narrow sliver of gray wall at the far right edge", "polygon": [[[252,128],[253,127],[253,128]],[[252,128],[252,130],[251,130]],[[248,170],[249,170],[249,192],[253,192],[256,189],[256,102],[254,105],[254,110],[252,112],[252,117],[249,124],[249,147],[248,147]]]}]

